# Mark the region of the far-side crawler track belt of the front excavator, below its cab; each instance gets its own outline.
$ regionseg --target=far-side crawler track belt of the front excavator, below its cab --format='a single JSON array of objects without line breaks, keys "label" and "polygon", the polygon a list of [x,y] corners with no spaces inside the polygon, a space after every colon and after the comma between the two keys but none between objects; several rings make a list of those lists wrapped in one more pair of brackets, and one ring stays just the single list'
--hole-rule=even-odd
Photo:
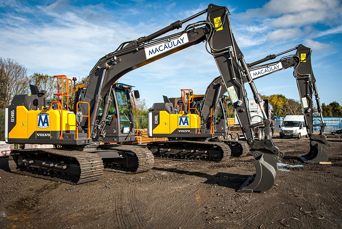
[{"label": "far-side crawler track belt of the front excavator, below its cab", "polygon": [[154,156],[151,151],[140,148],[140,147],[134,147],[132,145],[101,145],[102,149],[108,149],[108,150],[118,150],[118,151],[126,151],[130,153],[134,153],[137,156],[138,159],[138,167],[134,171],[123,171],[119,169],[112,169],[112,168],[106,168],[106,171],[115,171],[119,173],[127,173],[127,174],[135,174],[135,173],[142,173],[148,170],[151,170],[154,165]]}]

